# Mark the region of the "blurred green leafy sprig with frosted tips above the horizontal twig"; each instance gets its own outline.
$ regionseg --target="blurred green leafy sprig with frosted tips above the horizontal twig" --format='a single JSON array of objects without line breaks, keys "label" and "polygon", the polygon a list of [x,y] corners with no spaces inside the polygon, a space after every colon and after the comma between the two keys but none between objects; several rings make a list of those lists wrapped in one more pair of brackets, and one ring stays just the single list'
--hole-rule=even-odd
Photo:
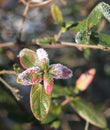
[{"label": "blurred green leafy sprig with frosted tips above the horizontal twig", "polygon": [[94,28],[100,22],[102,16],[110,21],[110,6],[108,4],[104,2],[99,3],[86,19],[78,23],[75,23],[74,21],[64,22],[61,11],[56,5],[53,5],[51,10],[53,19],[58,25],[60,25],[62,32],[70,30],[76,33],[76,43],[95,44],[108,48],[110,47],[108,40],[109,36],[101,33],[96,35],[96,33],[94,33]]}]

